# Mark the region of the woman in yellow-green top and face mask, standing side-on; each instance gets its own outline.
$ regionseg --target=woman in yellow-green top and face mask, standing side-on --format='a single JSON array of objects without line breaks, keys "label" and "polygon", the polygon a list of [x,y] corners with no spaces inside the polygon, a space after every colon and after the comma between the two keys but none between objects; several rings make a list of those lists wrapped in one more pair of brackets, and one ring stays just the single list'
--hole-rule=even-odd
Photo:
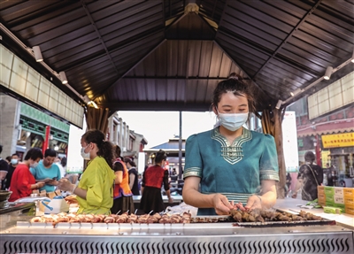
[{"label": "woman in yellow-green top and face mask, standing side-on", "polygon": [[81,136],[81,157],[89,164],[76,187],[67,179],[59,181],[58,189],[76,195],[78,213],[110,214],[113,204],[114,172],[112,143],[104,141],[104,133],[89,130]]}]

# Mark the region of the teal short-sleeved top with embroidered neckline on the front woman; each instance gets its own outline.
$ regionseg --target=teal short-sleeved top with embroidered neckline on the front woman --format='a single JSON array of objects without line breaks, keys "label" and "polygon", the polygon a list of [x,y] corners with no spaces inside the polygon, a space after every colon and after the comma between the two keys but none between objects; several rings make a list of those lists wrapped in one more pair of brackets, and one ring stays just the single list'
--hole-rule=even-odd
[{"label": "teal short-sleeved top with embroidered neckline on the front woman", "polygon": [[[200,177],[201,193],[220,193],[243,205],[260,192],[260,181],[279,181],[273,136],[246,128],[231,145],[220,135],[219,127],[189,136],[185,159],[183,177]],[[215,214],[214,208],[198,209],[198,215]]]}]

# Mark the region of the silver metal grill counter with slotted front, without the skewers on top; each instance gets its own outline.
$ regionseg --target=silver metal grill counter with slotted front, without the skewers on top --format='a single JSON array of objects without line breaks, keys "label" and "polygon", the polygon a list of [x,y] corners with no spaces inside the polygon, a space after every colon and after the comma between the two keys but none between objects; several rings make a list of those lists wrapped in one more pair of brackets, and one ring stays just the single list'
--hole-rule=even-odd
[{"label": "silver metal grill counter with slotted front, without the skewers on top", "polygon": [[[287,202],[276,206],[293,210],[304,203]],[[352,253],[353,216],[334,216],[292,223],[236,223],[216,216],[191,217],[190,223],[60,222],[53,227],[17,211],[1,215],[6,222],[0,248],[1,253]],[[340,224],[334,220],[339,216]]]}]

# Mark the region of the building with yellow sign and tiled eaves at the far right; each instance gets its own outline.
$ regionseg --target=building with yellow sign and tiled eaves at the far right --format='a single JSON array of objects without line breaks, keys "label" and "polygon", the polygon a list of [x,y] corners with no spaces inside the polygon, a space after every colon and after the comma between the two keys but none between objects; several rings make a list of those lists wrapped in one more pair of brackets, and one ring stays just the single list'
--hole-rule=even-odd
[{"label": "building with yellow sign and tiled eaves at the far right", "polygon": [[325,116],[309,119],[307,100],[302,98],[289,106],[296,112],[299,164],[311,150],[323,168],[334,169],[334,185],[352,187],[354,180],[354,105]]}]

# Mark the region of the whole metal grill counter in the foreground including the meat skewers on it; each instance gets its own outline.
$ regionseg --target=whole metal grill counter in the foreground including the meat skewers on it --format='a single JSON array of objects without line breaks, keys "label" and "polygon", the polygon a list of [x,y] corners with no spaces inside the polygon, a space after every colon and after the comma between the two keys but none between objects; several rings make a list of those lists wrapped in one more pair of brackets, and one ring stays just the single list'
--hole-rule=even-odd
[{"label": "whole metal grill counter in the foreground including the meat skewers on it", "polygon": [[[22,199],[26,208],[0,215],[1,253],[353,253],[353,216],[321,216],[298,199],[267,210],[234,204],[223,216],[197,216],[183,204],[141,215],[43,213],[35,205],[43,200]],[[63,200],[77,207],[75,196]]]}]

